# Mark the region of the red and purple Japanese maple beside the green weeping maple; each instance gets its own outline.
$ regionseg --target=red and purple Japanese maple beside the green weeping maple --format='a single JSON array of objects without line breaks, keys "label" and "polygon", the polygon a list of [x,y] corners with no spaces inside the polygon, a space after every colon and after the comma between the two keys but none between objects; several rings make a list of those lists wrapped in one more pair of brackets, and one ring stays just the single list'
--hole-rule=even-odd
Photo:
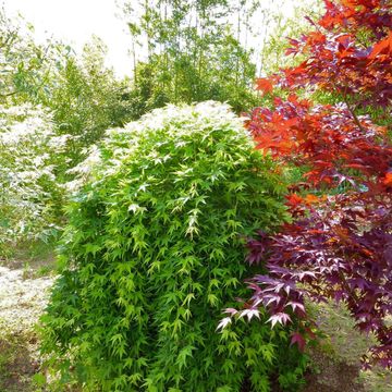
[{"label": "red and purple Japanese maple beside the green weeping maple", "polygon": [[[392,147],[385,127],[358,115],[391,109],[392,10],[382,0],[324,3],[315,30],[290,40],[287,54],[306,60],[258,83],[289,98],[255,109],[246,123],[257,148],[306,170],[287,195],[293,222],[248,241],[248,262],[265,261],[268,273],[248,281],[254,294],[242,313],[262,305],[272,326],[294,315],[301,326],[305,296],[344,301],[378,340],[364,364],[392,367]],[[330,91],[339,103],[299,99],[298,89]],[[298,332],[292,343],[303,346]]]}]

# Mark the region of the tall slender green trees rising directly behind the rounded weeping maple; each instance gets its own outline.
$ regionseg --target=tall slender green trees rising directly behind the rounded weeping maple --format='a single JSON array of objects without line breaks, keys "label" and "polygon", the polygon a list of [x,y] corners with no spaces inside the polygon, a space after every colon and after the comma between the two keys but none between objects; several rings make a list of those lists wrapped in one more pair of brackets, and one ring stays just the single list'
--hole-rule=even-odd
[{"label": "tall slender green trees rising directly behind the rounded weeping maple", "polygon": [[128,4],[124,14],[133,37],[135,118],[168,102],[228,101],[237,113],[256,105],[256,66],[240,42],[243,24],[234,28],[230,22],[232,12],[226,1]]}]

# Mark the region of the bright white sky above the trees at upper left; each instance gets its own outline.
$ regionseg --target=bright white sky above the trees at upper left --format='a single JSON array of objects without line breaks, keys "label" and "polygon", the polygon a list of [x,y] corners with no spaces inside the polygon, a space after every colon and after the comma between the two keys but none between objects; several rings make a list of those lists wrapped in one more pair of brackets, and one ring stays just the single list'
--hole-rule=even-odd
[{"label": "bright white sky above the trees at upper left", "polygon": [[119,76],[131,74],[127,56],[131,38],[126,25],[117,17],[115,0],[3,0],[3,3],[9,16],[21,12],[34,25],[39,41],[53,36],[79,51],[91,35],[97,35],[108,46],[107,64]]}]

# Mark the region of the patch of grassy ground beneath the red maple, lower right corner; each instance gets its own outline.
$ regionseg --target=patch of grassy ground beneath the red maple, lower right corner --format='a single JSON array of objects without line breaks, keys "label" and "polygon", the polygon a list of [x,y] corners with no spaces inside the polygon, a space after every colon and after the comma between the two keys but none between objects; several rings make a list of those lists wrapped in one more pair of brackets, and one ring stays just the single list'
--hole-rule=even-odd
[{"label": "patch of grassy ground beneath the red maple, lower right corner", "polygon": [[[334,303],[309,304],[323,339],[311,350],[311,375],[306,392],[391,392],[392,372],[375,366],[360,369],[359,358],[375,343],[375,338],[355,329],[345,306]],[[313,388],[313,389],[311,389]]]}]

